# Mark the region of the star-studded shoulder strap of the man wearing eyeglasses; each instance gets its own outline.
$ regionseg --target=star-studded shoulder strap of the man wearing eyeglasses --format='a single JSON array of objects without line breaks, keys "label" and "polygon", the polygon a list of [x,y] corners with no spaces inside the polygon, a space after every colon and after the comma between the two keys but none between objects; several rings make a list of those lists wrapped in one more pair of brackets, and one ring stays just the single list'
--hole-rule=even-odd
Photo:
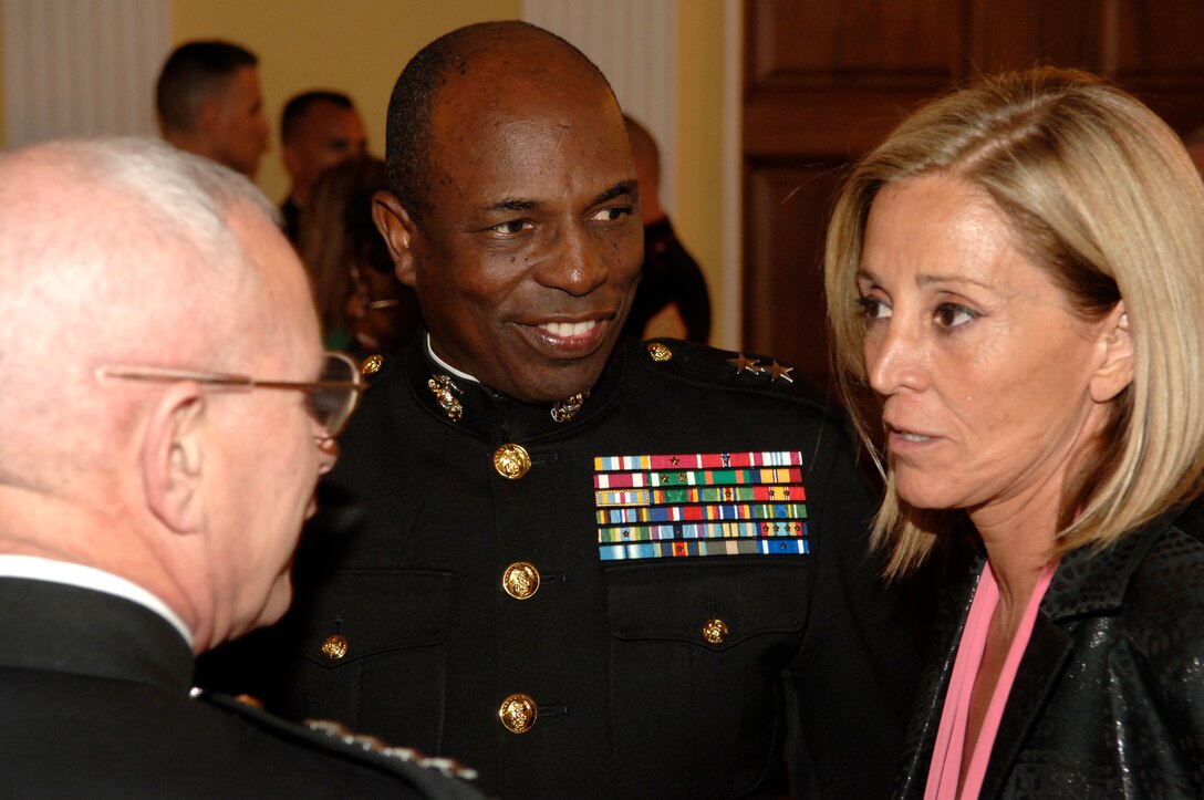
[{"label": "star-studded shoulder strap of the man wearing eyeglasses", "polygon": [[195,699],[241,717],[261,733],[300,749],[324,753],[342,760],[359,763],[367,769],[389,772],[409,784],[419,796],[464,798],[483,795],[467,781],[477,777],[472,770],[450,758],[429,757],[408,747],[394,747],[376,736],[348,730],[329,719],[307,719],[297,724],[264,711],[261,704],[246,695],[194,691]]}]

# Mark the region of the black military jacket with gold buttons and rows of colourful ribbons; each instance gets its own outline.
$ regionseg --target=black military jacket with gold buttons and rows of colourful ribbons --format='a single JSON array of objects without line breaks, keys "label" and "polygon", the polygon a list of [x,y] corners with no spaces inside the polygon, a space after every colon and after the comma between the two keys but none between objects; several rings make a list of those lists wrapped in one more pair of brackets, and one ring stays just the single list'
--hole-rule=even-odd
[{"label": "black military jacket with gold buttons and rows of colourful ribbons", "polygon": [[624,340],[584,401],[535,405],[419,343],[341,438],[294,609],[235,680],[501,798],[757,795],[783,753],[799,796],[885,796],[911,645],[852,445],[792,378]]}]

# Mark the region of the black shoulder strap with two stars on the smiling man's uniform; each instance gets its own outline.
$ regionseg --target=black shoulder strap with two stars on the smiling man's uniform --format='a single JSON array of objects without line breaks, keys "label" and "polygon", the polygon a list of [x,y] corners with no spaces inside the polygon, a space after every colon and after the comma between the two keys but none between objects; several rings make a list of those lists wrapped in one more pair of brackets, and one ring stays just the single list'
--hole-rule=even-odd
[{"label": "black shoulder strap with two stars on the smiling man's uniform", "polygon": [[636,360],[672,380],[790,397],[824,409],[834,402],[796,368],[773,356],[720,350],[680,339],[635,342]]}]

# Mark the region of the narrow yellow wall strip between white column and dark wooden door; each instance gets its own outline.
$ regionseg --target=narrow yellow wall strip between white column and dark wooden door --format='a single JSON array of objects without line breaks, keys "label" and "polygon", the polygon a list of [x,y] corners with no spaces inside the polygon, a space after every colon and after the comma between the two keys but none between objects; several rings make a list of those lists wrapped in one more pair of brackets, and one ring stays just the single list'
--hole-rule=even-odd
[{"label": "narrow yellow wall strip between white column and dark wooden door", "polygon": [[720,343],[721,320],[727,306],[737,302],[721,291],[725,269],[738,268],[738,265],[724,265],[725,1],[731,0],[678,0],[678,165],[673,227],[707,275],[712,343]]}]

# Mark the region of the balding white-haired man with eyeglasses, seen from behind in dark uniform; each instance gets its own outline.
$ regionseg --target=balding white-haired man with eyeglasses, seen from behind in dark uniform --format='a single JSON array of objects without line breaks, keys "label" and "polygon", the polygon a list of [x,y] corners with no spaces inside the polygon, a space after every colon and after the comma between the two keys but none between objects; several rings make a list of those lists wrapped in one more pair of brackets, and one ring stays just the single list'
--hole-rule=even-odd
[{"label": "balding white-haired man with eyeglasses, seen from behind in dark uniform", "polygon": [[288,608],[360,392],[249,182],[152,140],[0,158],[0,796],[479,796],[190,688]]}]

